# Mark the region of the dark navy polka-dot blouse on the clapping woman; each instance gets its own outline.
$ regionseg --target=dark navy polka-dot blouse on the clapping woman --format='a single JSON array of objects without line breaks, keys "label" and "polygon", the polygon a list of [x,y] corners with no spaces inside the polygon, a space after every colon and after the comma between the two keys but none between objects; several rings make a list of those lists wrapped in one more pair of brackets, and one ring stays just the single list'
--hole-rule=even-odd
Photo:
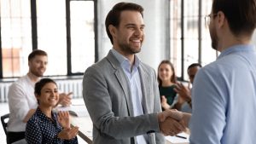
[{"label": "dark navy polka-dot blouse on the clapping woman", "polygon": [[52,112],[48,118],[39,108],[26,124],[26,141],[28,144],[78,144],[77,137],[61,140],[57,135],[62,127],[57,120],[57,113]]}]

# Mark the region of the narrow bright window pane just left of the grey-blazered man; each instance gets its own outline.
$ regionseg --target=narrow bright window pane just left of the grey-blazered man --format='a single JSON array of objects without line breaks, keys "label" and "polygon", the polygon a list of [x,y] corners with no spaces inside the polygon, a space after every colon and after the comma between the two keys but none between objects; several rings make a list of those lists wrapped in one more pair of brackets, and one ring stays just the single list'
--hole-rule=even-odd
[{"label": "narrow bright window pane just left of the grey-blazered man", "polygon": [[95,62],[94,3],[70,2],[72,72],[84,72]]}]

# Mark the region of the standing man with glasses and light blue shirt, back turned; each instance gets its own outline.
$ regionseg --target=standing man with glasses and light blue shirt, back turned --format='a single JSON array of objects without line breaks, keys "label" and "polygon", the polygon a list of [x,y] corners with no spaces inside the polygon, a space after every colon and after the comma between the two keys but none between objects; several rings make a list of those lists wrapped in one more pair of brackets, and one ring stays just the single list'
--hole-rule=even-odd
[{"label": "standing man with glasses and light blue shirt, back turned", "polygon": [[212,1],[207,22],[212,48],[221,54],[195,77],[192,144],[256,142],[256,50],[251,44],[255,15],[256,0]]}]

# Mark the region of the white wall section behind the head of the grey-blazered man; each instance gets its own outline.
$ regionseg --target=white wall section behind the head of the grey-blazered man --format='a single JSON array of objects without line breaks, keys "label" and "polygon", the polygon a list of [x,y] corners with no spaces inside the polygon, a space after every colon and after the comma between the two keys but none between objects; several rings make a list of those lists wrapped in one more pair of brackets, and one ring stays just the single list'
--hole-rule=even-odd
[{"label": "white wall section behind the head of the grey-blazered man", "polygon": [[[119,0],[98,1],[99,58],[102,59],[112,49],[105,30],[105,19],[108,11]],[[124,0],[137,3],[144,8],[145,40],[139,58],[149,66],[157,69],[160,60],[166,59],[166,0]]]}]

